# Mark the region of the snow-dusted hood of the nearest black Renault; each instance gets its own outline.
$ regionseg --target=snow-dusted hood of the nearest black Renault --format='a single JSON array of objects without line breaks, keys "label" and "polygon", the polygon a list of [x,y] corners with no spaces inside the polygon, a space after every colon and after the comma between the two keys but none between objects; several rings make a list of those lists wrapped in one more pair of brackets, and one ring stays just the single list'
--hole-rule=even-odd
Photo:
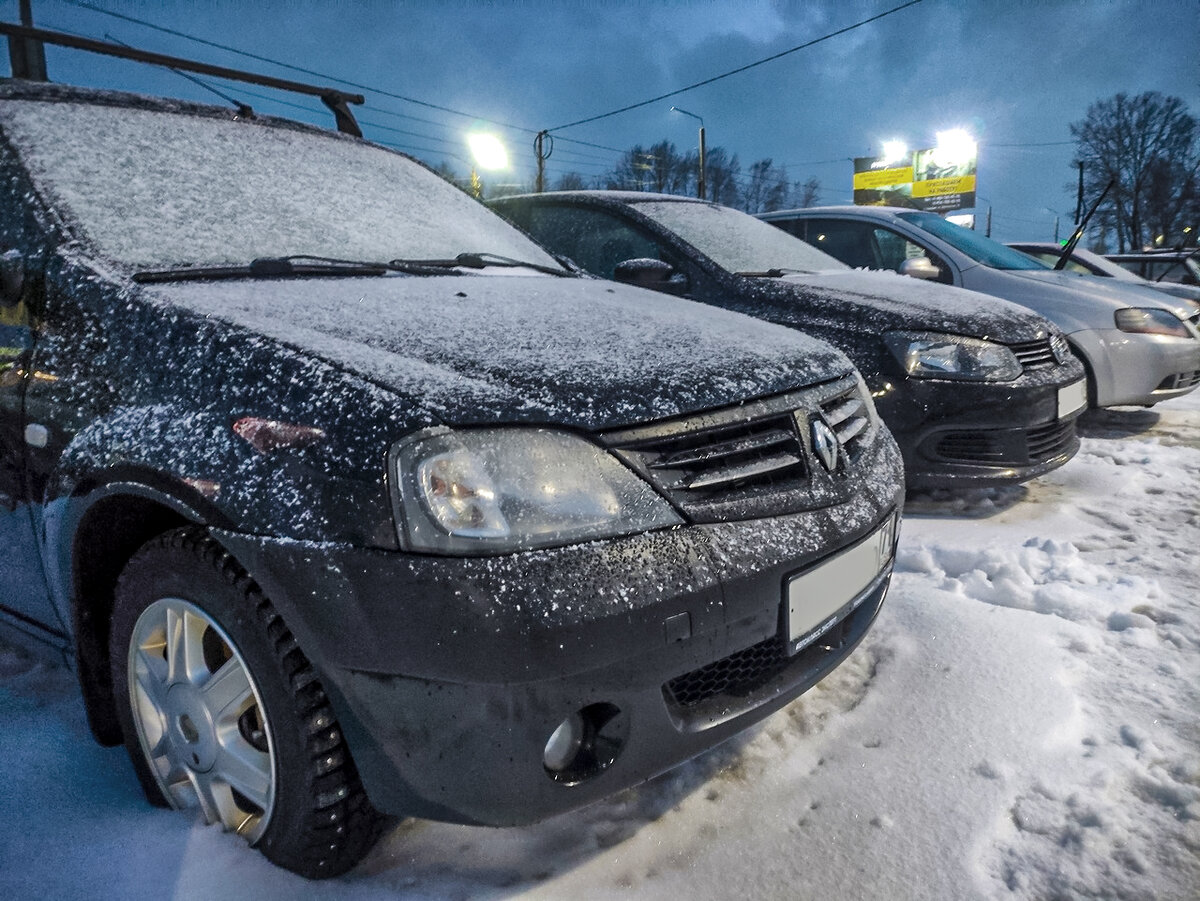
[{"label": "snow-dusted hood of the nearest black Renault", "polygon": [[840,352],[792,330],[582,278],[180,282],[145,296],[344,366],[457,425],[607,428],[851,370]]}]

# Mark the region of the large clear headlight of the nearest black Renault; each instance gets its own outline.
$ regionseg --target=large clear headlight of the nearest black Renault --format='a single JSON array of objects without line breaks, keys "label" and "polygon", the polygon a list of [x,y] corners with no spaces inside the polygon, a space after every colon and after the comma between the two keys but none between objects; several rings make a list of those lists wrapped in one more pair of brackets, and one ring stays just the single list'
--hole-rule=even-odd
[{"label": "large clear headlight of the nearest black Renault", "polygon": [[426,432],[396,446],[391,469],[412,551],[503,553],[683,522],[623,463],[565,432]]}]

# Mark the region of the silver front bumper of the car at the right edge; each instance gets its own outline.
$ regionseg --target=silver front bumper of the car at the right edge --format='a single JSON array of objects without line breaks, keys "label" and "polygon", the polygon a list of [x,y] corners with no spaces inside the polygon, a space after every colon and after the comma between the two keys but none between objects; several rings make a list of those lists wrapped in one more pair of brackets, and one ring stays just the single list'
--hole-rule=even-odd
[{"label": "silver front bumper of the car at the right edge", "polygon": [[1097,407],[1148,407],[1200,385],[1200,340],[1117,329],[1087,329],[1067,337],[1092,371]]}]

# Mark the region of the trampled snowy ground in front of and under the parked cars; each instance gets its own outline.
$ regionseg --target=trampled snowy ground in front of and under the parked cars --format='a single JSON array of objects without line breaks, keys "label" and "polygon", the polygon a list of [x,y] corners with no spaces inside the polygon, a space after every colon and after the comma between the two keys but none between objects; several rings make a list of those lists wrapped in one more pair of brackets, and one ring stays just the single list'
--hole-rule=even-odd
[{"label": "trampled snowy ground in front of and under the parked cars", "polygon": [[1200,397],[1082,433],[910,498],[864,645],[746,735],[538,827],[401,824],[336,883],[145,806],[73,677],[0,645],[0,897],[1200,897]]}]

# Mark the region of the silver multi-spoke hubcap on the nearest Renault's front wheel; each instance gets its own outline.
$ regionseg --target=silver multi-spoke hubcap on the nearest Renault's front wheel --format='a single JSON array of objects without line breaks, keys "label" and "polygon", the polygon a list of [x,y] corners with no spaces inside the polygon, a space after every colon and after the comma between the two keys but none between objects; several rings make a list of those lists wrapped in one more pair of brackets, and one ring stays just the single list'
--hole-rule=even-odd
[{"label": "silver multi-spoke hubcap on the nearest Renault's front wheel", "polygon": [[127,673],[138,740],[167,800],[257,841],[275,801],[275,753],[229,636],[190,601],[160,599],[133,626]]}]

